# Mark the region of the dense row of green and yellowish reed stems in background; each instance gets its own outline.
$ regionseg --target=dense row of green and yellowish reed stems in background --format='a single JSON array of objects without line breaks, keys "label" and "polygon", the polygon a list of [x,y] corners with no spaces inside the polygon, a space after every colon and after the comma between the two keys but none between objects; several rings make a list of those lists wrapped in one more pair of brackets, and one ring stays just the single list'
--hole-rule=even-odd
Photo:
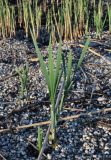
[{"label": "dense row of green and yellowish reed stems in background", "polygon": [[29,29],[39,36],[41,27],[52,35],[53,41],[62,37],[75,40],[90,31],[97,37],[107,28],[111,33],[111,3],[102,0],[17,0],[12,5],[0,1],[0,37],[12,37],[23,29],[26,37]]}]

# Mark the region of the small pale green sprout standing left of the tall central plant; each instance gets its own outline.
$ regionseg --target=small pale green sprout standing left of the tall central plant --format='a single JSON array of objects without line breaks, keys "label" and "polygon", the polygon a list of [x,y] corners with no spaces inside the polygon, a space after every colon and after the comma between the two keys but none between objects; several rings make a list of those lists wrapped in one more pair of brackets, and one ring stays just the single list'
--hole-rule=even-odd
[{"label": "small pale green sprout standing left of the tall central plant", "polygon": [[23,68],[18,68],[16,69],[16,72],[19,75],[19,79],[20,79],[20,97],[24,98],[25,96],[27,96],[27,85],[28,85],[28,71],[29,71],[29,67],[28,64],[26,64],[26,66],[24,66]]}]

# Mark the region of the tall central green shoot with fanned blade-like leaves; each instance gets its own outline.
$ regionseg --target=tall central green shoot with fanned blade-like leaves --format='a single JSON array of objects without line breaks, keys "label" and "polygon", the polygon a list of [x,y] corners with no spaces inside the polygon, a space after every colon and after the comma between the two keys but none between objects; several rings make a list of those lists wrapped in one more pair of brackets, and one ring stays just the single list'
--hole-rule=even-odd
[{"label": "tall central green shoot with fanned blade-like leaves", "polygon": [[[35,33],[35,32],[34,32]],[[61,74],[61,50],[59,47],[59,51],[57,54],[57,62],[56,62],[56,66],[54,64],[54,57],[53,57],[53,53],[52,53],[52,46],[51,46],[51,41],[49,44],[49,48],[48,48],[48,66],[46,66],[42,54],[40,53],[40,50],[37,46],[36,43],[36,39],[34,37],[34,34],[31,31],[31,35],[32,35],[32,39],[33,39],[33,43],[36,49],[36,53],[38,55],[39,61],[40,61],[40,66],[41,66],[41,70],[42,73],[44,75],[44,78],[46,80],[47,86],[48,86],[48,90],[49,90],[49,96],[50,96],[50,101],[51,101],[51,126],[52,126],[52,139],[55,139],[55,129],[56,129],[56,113],[55,113],[55,101],[56,101],[56,94],[57,94],[57,89],[58,89],[58,85],[60,83],[60,74]]]}]

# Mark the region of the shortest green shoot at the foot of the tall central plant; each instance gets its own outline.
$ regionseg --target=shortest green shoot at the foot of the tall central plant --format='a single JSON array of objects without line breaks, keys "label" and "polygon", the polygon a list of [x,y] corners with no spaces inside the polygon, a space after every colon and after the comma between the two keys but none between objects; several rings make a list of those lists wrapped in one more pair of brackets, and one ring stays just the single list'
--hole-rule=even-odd
[{"label": "shortest green shoot at the foot of the tall central plant", "polygon": [[38,137],[37,137],[37,150],[40,152],[42,148],[42,140],[43,140],[43,130],[38,127]]}]

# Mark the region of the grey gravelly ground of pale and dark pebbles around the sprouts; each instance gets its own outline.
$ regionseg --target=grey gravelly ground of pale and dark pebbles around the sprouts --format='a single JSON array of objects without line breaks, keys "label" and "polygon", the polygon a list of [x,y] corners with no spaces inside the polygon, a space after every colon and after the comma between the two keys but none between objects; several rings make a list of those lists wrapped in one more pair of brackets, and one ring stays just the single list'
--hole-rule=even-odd
[{"label": "grey gravelly ground of pale and dark pebbles around the sprouts", "polygon": [[[61,117],[80,114],[75,120],[63,121],[57,127],[57,145],[45,152],[52,160],[110,160],[111,159],[111,37],[91,41],[91,47],[103,57],[89,52],[74,85],[65,99]],[[76,47],[75,47],[76,45]],[[73,68],[81,48],[64,43],[63,52],[73,52]],[[54,46],[54,52],[57,46]],[[47,61],[47,47],[41,48]],[[6,39],[0,42],[0,160],[35,160],[38,151],[37,127],[14,130],[15,127],[49,120],[47,87],[35,59],[34,48],[27,40]],[[21,98],[20,79],[15,69],[28,62],[27,95]],[[90,113],[90,114],[88,114]],[[47,126],[43,127],[44,134]],[[50,145],[49,145],[50,148]]]}]

